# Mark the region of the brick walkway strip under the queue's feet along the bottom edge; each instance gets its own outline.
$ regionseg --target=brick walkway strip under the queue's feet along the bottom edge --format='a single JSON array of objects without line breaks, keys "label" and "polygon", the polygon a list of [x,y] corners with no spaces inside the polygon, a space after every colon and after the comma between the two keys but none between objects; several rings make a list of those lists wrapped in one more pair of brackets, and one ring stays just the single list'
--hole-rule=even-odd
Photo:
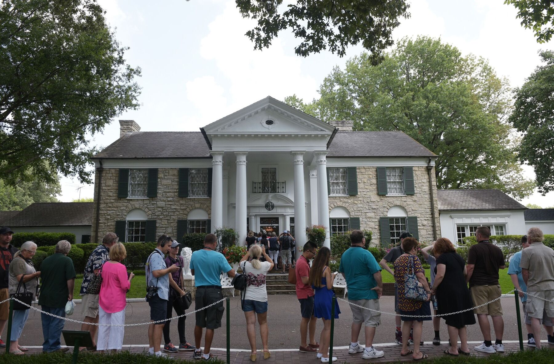
[{"label": "brick walkway strip under the queue's feet along the bottom edge", "polygon": [[[526,344],[526,343],[524,343]],[[471,349],[471,355],[474,356],[489,356],[489,354],[481,353],[478,351],[473,350],[473,347],[478,345],[476,344],[469,344],[469,347]],[[506,353],[511,351],[517,351],[519,350],[519,344],[516,342],[510,342],[504,344]],[[375,345],[375,347],[378,350],[383,350],[385,355],[378,359],[371,359],[366,360],[362,358],[362,353],[357,353],[354,355],[350,355],[348,353],[348,349],[335,349],[333,352],[333,356],[337,357],[336,363],[352,363],[352,364],[368,364],[368,363],[388,363],[388,362],[397,362],[397,361],[413,361],[412,356],[400,356],[400,350],[401,346],[399,345]],[[551,347],[550,345],[544,343],[543,347]],[[527,347],[525,346],[526,350]],[[124,350],[129,350],[131,352],[145,352],[147,351],[146,347],[136,347],[136,346],[129,346],[124,345]],[[429,358],[433,357],[439,357],[444,356],[443,353],[444,350],[448,349],[447,344],[442,344],[440,346],[435,346],[432,344],[425,344],[421,351],[429,356]],[[554,348],[553,348],[554,349]],[[41,350],[38,348],[32,348],[29,349],[29,353],[40,353]],[[71,352],[71,351],[70,351]],[[217,356],[219,359],[226,361],[227,360],[227,353],[223,350],[212,350],[212,353]],[[171,354],[171,356],[183,359],[183,360],[192,360],[192,351],[181,351],[175,354]],[[460,355],[460,357],[463,357]],[[232,364],[247,364],[250,363],[250,351],[231,351],[231,363]],[[297,350],[279,350],[279,351],[273,351],[271,352],[271,357],[268,360],[264,360],[263,353],[261,351],[258,352],[258,360],[260,364],[274,364],[274,363],[290,363],[290,364],[317,364],[321,363],[319,359],[316,358],[315,354],[311,353],[305,353],[305,352],[299,352]]]}]

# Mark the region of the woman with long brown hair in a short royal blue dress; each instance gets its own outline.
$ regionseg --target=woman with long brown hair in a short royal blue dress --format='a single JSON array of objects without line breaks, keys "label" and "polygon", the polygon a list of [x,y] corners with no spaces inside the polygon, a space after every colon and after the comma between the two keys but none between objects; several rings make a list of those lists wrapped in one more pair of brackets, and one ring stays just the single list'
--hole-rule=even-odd
[{"label": "woman with long brown hair in a short royal blue dress", "polygon": [[[333,281],[336,273],[331,274],[329,268],[329,259],[331,258],[331,251],[329,248],[322,247],[317,252],[314,259],[314,266],[310,269],[310,284],[314,288],[314,316],[318,319],[323,319],[323,330],[321,331],[321,338],[319,340],[319,351],[317,357],[321,358],[322,363],[328,363],[330,361],[337,360],[336,357],[332,357],[329,360],[329,341],[331,340],[331,305],[333,302]],[[338,304],[335,302],[335,319],[338,319],[338,314],[341,311],[338,308]]]}]

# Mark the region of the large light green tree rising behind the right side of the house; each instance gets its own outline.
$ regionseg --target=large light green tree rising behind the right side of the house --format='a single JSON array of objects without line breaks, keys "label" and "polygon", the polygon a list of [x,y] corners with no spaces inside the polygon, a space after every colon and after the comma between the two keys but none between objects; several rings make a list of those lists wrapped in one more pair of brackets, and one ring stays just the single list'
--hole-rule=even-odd
[{"label": "large light green tree rising behind the right side of the house", "polygon": [[399,41],[379,65],[363,53],[335,67],[318,100],[285,102],[323,121],[352,120],[355,130],[407,133],[438,155],[439,189],[498,188],[521,199],[535,184],[522,175],[506,121],[509,91],[488,61],[418,37]]}]

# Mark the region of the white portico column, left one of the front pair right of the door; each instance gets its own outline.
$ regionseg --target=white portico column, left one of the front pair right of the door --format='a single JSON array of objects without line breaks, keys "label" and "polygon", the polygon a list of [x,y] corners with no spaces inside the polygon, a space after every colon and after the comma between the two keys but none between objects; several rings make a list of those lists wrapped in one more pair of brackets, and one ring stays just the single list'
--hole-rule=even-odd
[{"label": "white portico column, left one of the front pair right of the door", "polygon": [[[296,246],[306,243],[306,197],[304,194],[304,152],[291,152],[294,160],[294,235]],[[300,250],[300,249],[299,249]]]}]

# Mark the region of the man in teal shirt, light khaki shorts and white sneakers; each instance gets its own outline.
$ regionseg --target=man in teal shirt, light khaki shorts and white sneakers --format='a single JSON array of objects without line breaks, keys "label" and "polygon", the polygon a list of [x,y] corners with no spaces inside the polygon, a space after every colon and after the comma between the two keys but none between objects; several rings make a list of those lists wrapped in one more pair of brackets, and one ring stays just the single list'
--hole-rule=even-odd
[{"label": "man in teal shirt, light khaki shorts and white sneakers", "polygon": [[[379,310],[379,297],[383,294],[381,267],[367,249],[366,238],[361,230],[350,233],[351,247],[342,254],[338,270],[346,279],[348,302],[364,308]],[[350,305],[352,310],[352,337],[348,353],[363,351],[362,358],[379,358],[383,351],[373,348],[375,328],[381,321],[381,313]],[[366,347],[358,342],[362,323],[365,326]]]}]

